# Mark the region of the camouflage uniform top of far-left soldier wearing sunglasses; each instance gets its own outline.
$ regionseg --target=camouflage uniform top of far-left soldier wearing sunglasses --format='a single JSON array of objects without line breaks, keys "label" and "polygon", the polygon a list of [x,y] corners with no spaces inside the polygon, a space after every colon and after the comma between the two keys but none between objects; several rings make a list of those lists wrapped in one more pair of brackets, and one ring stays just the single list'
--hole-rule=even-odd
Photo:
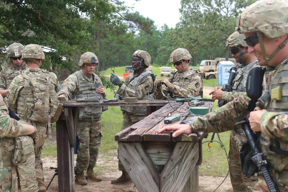
[{"label": "camouflage uniform top of far-left soldier wearing sunglasses", "polygon": [[24,69],[27,69],[27,64],[24,62],[21,69],[16,69],[13,64],[9,66],[7,64],[2,64],[1,68],[2,71],[0,71],[0,90],[6,90],[9,88],[9,85],[14,77],[20,75]]}]

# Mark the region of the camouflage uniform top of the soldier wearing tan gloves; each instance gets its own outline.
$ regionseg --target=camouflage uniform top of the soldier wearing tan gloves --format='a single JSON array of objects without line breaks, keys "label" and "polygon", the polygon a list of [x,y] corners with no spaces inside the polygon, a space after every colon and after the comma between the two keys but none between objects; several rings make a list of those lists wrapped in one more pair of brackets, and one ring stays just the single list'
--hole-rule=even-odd
[{"label": "camouflage uniform top of the soldier wearing tan gloves", "polygon": [[[175,97],[190,97],[190,96],[201,96],[203,91],[203,80],[198,73],[198,70],[189,70],[183,73],[176,72],[173,77],[169,79],[169,81],[175,85],[173,89],[173,96]],[[166,93],[168,88],[164,85],[163,92]],[[156,99],[158,100],[166,100],[167,98],[162,95],[161,89],[156,89],[154,92]],[[166,96],[171,98],[171,96],[167,93]]]}]

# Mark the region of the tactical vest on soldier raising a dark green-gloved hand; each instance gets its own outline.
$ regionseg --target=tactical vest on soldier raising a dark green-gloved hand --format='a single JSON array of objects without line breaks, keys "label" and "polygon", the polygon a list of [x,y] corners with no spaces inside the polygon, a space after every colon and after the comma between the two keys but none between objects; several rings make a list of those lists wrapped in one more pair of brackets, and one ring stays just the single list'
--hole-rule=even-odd
[{"label": "tactical vest on soldier raising a dark green-gloved hand", "polygon": [[[131,73],[131,74],[134,74],[134,73]],[[146,79],[148,75],[152,77],[153,81],[155,80],[155,75],[151,71],[147,71],[147,72],[141,73],[140,75],[134,78],[132,78],[132,75],[131,75],[130,76],[131,80],[129,79],[127,87],[133,90],[136,89],[137,85],[143,82],[143,79]],[[126,78],[130,78],[130,77],[127,76]],[[152,92],[152,90],[153,90],[153,83],[152,83],[152,86],[149,88],[149,91],[147,92],[147,94],[139,100],[149,100],[148,95],[149,93]],[[124,111],[130,115],[147,115],[146,106],[123,106],[121,107],[121,111]]]}]

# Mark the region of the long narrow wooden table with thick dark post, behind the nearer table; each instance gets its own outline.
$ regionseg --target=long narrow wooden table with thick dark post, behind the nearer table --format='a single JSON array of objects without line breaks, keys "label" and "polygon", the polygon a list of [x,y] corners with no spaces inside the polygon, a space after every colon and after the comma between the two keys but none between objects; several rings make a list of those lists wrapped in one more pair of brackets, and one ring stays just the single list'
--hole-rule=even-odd
[{"label": "long narrow wooden table with thick dark post, behind the nearer table", "polygon": [[147,113],[149,114],[160,109],[168,101],[141,100],[133,103],[125,103],[124,101],[109,103],[65,101],[61,103],[64,112],[61,113],[59,120],[56,122],[58,191],[70,192],[75,191],[74,142],[80,106],[147,106]]}]

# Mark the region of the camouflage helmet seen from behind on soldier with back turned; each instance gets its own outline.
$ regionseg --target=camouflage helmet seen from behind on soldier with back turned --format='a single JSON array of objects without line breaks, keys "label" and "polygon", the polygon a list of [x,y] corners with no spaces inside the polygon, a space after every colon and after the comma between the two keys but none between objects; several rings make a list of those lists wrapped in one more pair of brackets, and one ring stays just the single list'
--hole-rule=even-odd
[{"label": "camouflage helmet seen from behind on soldier with back turned", "polygon": [[23,53],[22,53],[22,59],[33,61],[35,64],[37,64],[39,67],[40,65],[36,62],[36,59],[45,59],[44,52],[42,50],[42,47],[37,44],[29,44],[26,45]]}]

